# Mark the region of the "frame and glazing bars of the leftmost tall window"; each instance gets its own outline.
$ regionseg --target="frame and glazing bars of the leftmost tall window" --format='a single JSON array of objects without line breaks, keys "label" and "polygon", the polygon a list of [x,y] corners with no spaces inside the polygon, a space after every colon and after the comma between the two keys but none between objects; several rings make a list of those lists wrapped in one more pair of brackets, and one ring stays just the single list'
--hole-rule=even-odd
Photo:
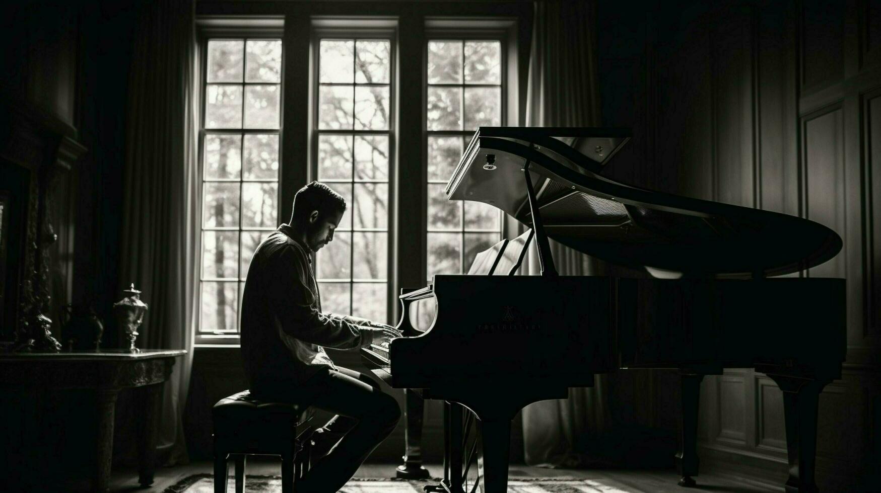
[{"label": "frame and glazing bars of the leftmost tall window", "polygon": [[[232,24],[231,24],[232,23]],[[242,117],[241,129],[206,129],[205,128],[205,106],[207,100],[207,86],[208,86],[208,41],[209,40],[242,40],[243,43],[247,42],[247,40],[281,40],[282,43],[282,53],[281,53],[281,69],[279,73],[279,82],[278,82],[278,129],[245,129],[244,116]],[[205,282],[203,276],[203,255],[204,255],[204,232],[205,231],[220,231],[220,230],[205,230],[204,229],[204,197],[205,197],[205,179],[204,179],[204,142],[205,136],[211,135],[236,135],[242,137],[242,145],[244,145],[244,137],[248,134],[266,134],[266,133],[275,133],[278,131],[278,195],[276,200],[276,217],[278,219],[281,218],[281,184],[282,184],[282,174],[284,173],[284,158],[283,158],[283,141],[285,138],[285,118],[284,118],[284,107],[285,107],[285,25],[284,18],[278,17],[264,17],[264,18],[253,18],[253,19],[219,19],[219,18],[200,18],[196,20],[196,43],[197,43],[197,56],[196,60],[198,63],[198,79],[196,80],[196,93],[198,99],[198,111],[199,111],[199,120],[198,120],[198,136],[196,141],[196,158],[198,159],[198,183],[199,183],[199,212],[198,212],[198,228],[199,228],[199,254],[198,254],[198,280],[197,285],[195,286],[197,295],[197,305],[196,305],[196,327],[193,327],[193,342],[195,345],[200,347],[228,347],[228,346],[237,346],[241,340],[241,332],[237,331],[235,333],[229,334],[210,334],[201,332],[201,328],[203,325],[202,320],[202,283]],[[242,59],[242,63],[245,63],[245,60]],[[244,67],[243,67],[244,70]],[[239,83],[237,83],[239,84]],[[245,99],[244,99],[244,87],[248,83],[245,82],[244,74],[242,76],[241,86],[242,90],[242,111],[244,111]],[[242,160],[244,159],[244,155],[241,156]],[[218,180],[220,182],[222,180]],[[241,179],[239,180],[229,180],[230,182],[237,181],[240,183],[240,186],[245,181]],[[268,180],[255,180],[254,182],[266,182]],[[239,255],[238,262],[240,263],[241,269],[241,232],[246,231],[241,228],[241,188],[240,188],[240,198],[239,198],[239,227],[235,230],[227,230],[227,231],[237,231],[240,232],[239,237]],[[259,228],[250,228],[247,231],[265,231],[272,232],[277,228],[267,228],[265,230],[260,230]],[[236,326],[238,327],[241,323],[241,290],[238,289],[239,285],[244,285],[241,281],[241,271],[240,275],[236,279],[235,283],[237,286],[236,290]],[[211,279],[208,279],[208,282],[211,282]],[[224,281],[224,282],[232,282],[232,281]]]}]

